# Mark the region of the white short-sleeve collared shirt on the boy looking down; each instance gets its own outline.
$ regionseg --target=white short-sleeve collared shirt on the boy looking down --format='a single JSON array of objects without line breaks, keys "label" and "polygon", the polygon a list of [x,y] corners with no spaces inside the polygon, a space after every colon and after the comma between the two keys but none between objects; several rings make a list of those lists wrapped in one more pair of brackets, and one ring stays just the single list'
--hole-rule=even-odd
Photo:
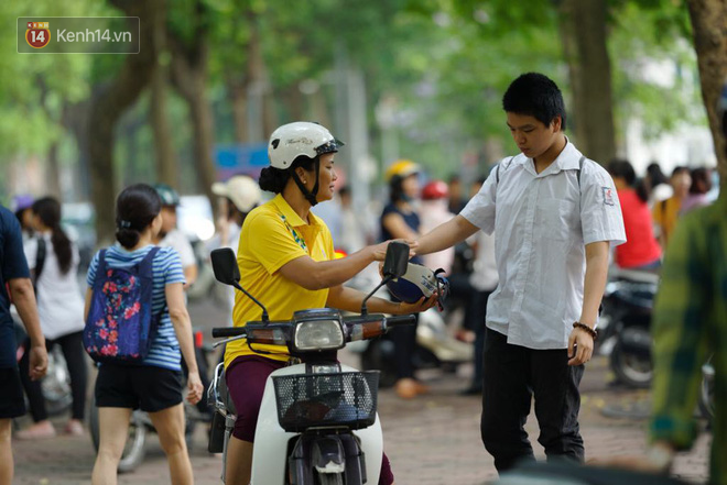
[{"label": "white short-sleeve collared shirt on the boy looking down", "polygon": [[[487,327],[508,343],[565,349],[580,317],[585,245],[626,242],[614,179],[569,142],[545,170],[532,158],[504,158],[460,214],[495,232],[499,284]],[[580,172],[578,177],[578,170]]]}]

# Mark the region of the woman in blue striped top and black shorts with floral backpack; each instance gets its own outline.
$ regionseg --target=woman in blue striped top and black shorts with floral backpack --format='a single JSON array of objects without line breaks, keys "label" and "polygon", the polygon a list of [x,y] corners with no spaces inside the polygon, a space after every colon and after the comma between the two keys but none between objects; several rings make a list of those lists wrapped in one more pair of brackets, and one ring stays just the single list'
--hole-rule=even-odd
[{"label": "woman in blue striped top and black shorts with floral backpack", "polygon": [[[156,191],[145,184],[122,190],[116,203],[116,239],[119,244],[97,253],[88,268],[84,344],[91,356],[99,359],[95,351],[104,355],[99,359],[104,362],[99,364],[95,389],[100,443],[91,475],[94,485],[117,483],[117,466],[128,438],[129,420],[137,408],[149,414],[156,429],[169,460],[172,483],[194,483],[184,441],[182,355],[189,370],[189,403],[199,401],[203,386],[182,289],[184,273],[180,256],[171,247],[160,249],[152,244],[162,224],[161,206]],[[143,295],[145,288],[142,284],[139,300],[129,305],[129,288],[133,291],[137,278],[131,276],[129,282],[122,284],[118,279],[111,282],[110,277],[113,274],[130,274],[139,268],[140,274],[145,269],[151,275],[151,295]],[[100,280],[97,282],[97,278]],[[151,305],[141,301],[147,297]],[[110,305],[99,306],[98,301]],[[118,301],[123,301],[122,313],[127,317],[133,317],[134,312],[143,315],[151,306],[153,328],[150,345],[145,349],[145,356],[137,355],[137,362],[123,361],[121,356],[128,343],[123,338],[123,321],[111,318],[110,312],[104,313],[105,310],[112,311],[109,307]],[[107,323],[111,330],[101,328]],[[108,344],[96,349],[91,345],[93,338],[107,339]]]}]

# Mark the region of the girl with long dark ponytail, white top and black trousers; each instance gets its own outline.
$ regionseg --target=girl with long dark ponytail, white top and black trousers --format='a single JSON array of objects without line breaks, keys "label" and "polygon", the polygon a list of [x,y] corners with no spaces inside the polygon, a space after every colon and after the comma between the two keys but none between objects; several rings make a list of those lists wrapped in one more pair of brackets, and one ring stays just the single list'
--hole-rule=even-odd
[{"label": "girl with long dark ponytail, white top and black trousers", "polygon": [[[46,348],[51,350],[55,344],[61,345],[70,375],[73,414],[64,431],[79,436],[84,432],[88,371],[80,344],[84,300],[76,279],[78,249],[61,229],[61,203],[56,199],[44,197],[36,200],[32,213],[35,238],[24,245],[25,258],[35,280],[37,312]],[[30,340],[23,346],[30,349]],[[31,381],[28,366],[29,356],[23,354],[20,375],[34,423],[19,431],[18,439],[54,437],[55,429],[48,421],[41,381]]]}]

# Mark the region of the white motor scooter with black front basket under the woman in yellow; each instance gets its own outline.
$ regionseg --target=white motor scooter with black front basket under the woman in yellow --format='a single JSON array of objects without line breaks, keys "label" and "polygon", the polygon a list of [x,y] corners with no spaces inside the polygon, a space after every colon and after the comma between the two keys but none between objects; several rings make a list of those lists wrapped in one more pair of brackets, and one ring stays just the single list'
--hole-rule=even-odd
[{"label": "white motor scooter with black front basket under the woman in yellow", "polygon": [[[213,337],[227,338],[216,345],[247,339],[256,344],[287,346],[301,363],[273,372],[265,383],[252,453],[252,485],[356,485],[378,483],[383,453],[377,415],[379,373],[359,372],[337,361],[347,342],[372,339],[389,329],[414,322],[414,316],[369,315],[364,300],[361,315],[343,317],[338,310],[314,308],[296,311],[291,320],[270,321],[268,310],[239,285],[239,269],[229,249],[211,253],[216,278],[232,285],[262,308],[262,320],[245,327],[213,329]],[[389,244],[383,280],[406,272],[409,246]],[[378,289],[378,287],[377,287]],[[235,410],[224,386],[221,365],[208,399],[216,412],[209,451],[227,455],[235,425]],[[223,481],[225,469],[223,467]]]}]

